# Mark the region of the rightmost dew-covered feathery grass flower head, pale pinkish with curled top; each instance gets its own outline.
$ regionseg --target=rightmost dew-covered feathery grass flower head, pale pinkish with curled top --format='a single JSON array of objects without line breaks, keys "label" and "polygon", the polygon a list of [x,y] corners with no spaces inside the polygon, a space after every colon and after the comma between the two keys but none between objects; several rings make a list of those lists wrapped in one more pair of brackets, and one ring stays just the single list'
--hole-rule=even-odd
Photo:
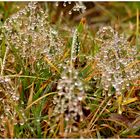
[{"label": "rightmost dew-covered feathery grass flower head, pale pinkish with curled top", "polygon": [[97,40],[100,42],[100,48],[95,59],[101,71],[102,87],[105,91],[113,87],[116,98],[123,96],[132,81],[140,78],[139,52],[110,26],[98,31]]}]

